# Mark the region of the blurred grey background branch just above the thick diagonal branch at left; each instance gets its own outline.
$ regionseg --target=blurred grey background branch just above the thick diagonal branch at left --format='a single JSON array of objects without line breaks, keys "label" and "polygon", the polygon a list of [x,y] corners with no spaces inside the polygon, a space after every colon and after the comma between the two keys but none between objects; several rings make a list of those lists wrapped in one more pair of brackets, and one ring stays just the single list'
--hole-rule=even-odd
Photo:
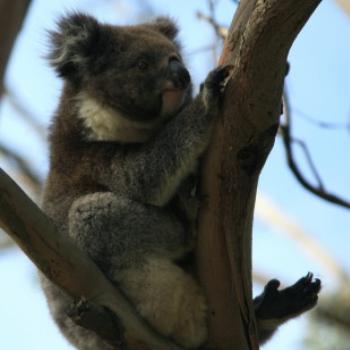
[{"label": "blurred grey background branch just above the thick diagonal branch at left", "polygon": [[19,177],[23,179],[23,182],[33,191],[36,196],[39,196],[42,188],[42,182],[31,165],[20,155],[2,143],[0,143],[0,154],[15,163],[15,166],[18,168],[20,173]]}]

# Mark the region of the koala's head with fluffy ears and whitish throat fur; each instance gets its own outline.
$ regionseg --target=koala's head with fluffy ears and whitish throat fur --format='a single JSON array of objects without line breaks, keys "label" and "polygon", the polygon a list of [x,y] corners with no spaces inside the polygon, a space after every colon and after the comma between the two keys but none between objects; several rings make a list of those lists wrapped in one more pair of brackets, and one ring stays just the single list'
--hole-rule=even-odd
[{"label": "koala's head with fluffy ears and whitish throat fur", "polygon": [[49,60],[77,92],[91,138],[142,142],[181,109],[191,84],[177,31],[168,18],[125,27],[79,13],[59,21]]}]

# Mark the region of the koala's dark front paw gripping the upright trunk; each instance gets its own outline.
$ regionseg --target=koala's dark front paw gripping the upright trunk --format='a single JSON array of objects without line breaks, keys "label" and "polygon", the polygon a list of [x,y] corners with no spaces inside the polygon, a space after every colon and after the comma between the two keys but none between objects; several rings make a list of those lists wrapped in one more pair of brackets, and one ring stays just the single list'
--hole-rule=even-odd
[{"label": "koala's dark front paw gripping the upright trunk", "polygon": [[211,106],[216,107],[221,102],[232,69],[232,65],[219,66],[208,74],[201,87],[203,102],[207,109]]}]

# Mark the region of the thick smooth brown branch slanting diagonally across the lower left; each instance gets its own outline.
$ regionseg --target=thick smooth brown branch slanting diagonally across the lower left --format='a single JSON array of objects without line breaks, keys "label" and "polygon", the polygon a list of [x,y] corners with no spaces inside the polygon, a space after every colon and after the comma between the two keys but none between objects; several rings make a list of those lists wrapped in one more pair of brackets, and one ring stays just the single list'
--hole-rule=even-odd
[{"label": "thick smooth brown branch slanting diagonally across the lower left", "polygon": [[1,168],[0,227],[47,278],[78,301],[88,302],[88,312],[80,312],[83,318],[80,324],[95,331],[115,349],[120,349],[120,325],[104,308],[118,315],[127,343],[136,339],[152,350],[181,349],[140,318],[125,296],[71,240],[59,234],[47,216]]}]

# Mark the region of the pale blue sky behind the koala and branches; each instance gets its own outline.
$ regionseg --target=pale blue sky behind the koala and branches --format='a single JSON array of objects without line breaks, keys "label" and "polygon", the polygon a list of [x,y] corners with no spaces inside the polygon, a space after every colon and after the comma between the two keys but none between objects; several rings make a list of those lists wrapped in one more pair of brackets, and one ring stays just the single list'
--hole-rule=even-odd
[{"label": "pale blue sky behind the koala and branches", "polygon": [[[140,13],[134,6],[139,2],[120,1],[118,8],[115,3],[34,1],[12,55],[6,82],[44,125],[49,124],[61,89],[61,82],[42,58],[47,51],[45,29],[52,29],[55,19],[70,9],[82,9],[111,23],[137,21]],[[156,15],[168,14],[178,21],[185,57],[194,82],[199,84],[215,64],[210,52],[193,54],[196,49],[215,42],[211,28],[195,18],[195,11],[207,10],[206,2],[153,0],[149,3]],[[232,1],[221,0],[217,11],[220,23],[228,25],[234,9]],[[350,198],[349,131],[316,128],[297,111],[327,122],[345,124],[349,121],[349,37],[350,18],[332,0],[324,0],[290,52],[291,70],[287,78],[295,111],[293,133],[307,143],[326,187],[346,198]],[[0,138],[30,160],[44,178],[48,166],[47,146],[22,122],[6,100],[0,107]],[[301,153],[297,152],[297,155],[305,165]],[[2,158],[0,165],[11,170]],[[309,171],[306,174],[310,176]],[[280,139],[276,140],[264,168],[259,191],[319,240],[350,273],[349,212],[315,198],[300,187],[286,167]],[[325,291],[335,286],[334,278],[310,260],[295,242],[259,219],[254,232],[254,264],[285,283],[292,283],[307,271],[314,271],[322,278]],[[0,279],[1,347],[6,350],[69,349],[48,316],[35,269],[21,252],[12,250],[0,255]],[[264,349],[302,349],[305,326],[305,318],[290,322]]]}]

